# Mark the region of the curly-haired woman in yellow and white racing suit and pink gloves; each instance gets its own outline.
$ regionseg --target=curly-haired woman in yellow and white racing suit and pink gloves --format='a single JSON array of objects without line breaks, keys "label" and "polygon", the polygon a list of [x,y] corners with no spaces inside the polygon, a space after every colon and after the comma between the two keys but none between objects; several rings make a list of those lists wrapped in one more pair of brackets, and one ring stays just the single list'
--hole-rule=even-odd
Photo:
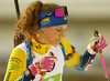
[{"label": "curly-haired woman in yellow and white racing suit and pink gloves", "polygon": [[16,23],[26,39],[11,52],[3,81],[62,81],[64,64],[80,72],[90,68],[106,40],[101,34],[92,37],[78,54],[65,38],[67,16],[67,7],[56,3],[35,1],[26,8]]}]

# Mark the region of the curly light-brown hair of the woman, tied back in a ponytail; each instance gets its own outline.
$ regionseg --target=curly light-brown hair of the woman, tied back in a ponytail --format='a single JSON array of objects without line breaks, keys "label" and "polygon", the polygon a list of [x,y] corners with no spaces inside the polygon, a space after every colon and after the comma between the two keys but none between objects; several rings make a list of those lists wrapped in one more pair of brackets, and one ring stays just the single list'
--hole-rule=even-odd
[{"label": "curly light-brown hair of the woman, tied back in a ponytail", "polygon": [[57,3],[42,3],[35,1],[31,3],[24,11],[24,14],[16,23],[16,30],[21,31],[26,39],[31,39],[40,29],[38,12],[52,11],[58,8]]}]

